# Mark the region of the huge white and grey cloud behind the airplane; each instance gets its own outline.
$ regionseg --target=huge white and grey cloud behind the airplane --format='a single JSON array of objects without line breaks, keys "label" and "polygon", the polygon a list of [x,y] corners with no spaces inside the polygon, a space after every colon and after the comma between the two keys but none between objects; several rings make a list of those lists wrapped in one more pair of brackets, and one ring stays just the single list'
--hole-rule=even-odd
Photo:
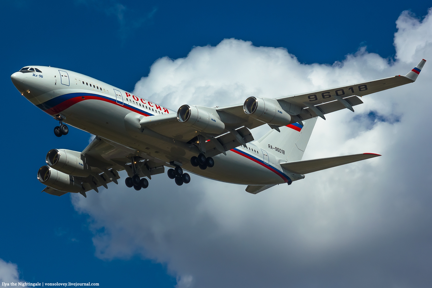
[{"label": "huge white and grey cloud behind the airplane", "polygon": [[[431,14],[400,15],[394,60],[360,48],[332,65],[302,64],[285,48],[225,39],[157,60],[134,93],[172,109],[223,106],[406,74],[432,58]],[[140,192],[121,183],[87,198],[71,195],[76,210],[89,214],[96,256],[166,263],[179,288],[429,287],[429,66],[413,84],[363,97],[355,113],[318,119],[304,155],[382,157],[257,195],[199,176],[179,187],[166,175]]]}]

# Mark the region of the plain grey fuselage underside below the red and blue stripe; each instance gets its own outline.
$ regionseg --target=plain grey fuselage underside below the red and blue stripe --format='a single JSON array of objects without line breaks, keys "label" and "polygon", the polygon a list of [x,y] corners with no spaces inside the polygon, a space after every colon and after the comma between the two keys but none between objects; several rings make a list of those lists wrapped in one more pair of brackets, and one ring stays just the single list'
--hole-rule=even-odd
[{"label": "plain grey fuselage underside below the red and blue stripe", "polygon": [[[178,145],[149,137],[139,130],[131,132],[125,129],[125,117],[130,110],[108,102],[89,99],[81,101],[65,109],[66,123],[89,133],[98,135],[126,147],[140,151],[142,154],[169,163],[177,160],[183,163],[183,169],[191,173],[215,179],[245,185],[267,185],[286,182],[283,177],[269,169],[268,165],[257,163],[238,154],[227,151],[227,155],[219,154],[214,158],[215,166],[201,170],[190,163],[192,156],[197,155],[197,149],[184,149]],[[181,143],[184,144],[184,143]],[[240,151],[239,149],[237,149]]]}]

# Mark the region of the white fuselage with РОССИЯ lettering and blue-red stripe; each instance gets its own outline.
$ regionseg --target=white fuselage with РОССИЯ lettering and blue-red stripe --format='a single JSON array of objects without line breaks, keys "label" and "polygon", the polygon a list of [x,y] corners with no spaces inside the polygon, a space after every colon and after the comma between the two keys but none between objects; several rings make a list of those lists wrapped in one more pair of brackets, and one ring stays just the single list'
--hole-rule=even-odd
[{"label": "white fuselage with \u0420\u041e\u0421\u0421\u0418\u042f lettering and blue-red stripe", "polygon": [[125,127],[125,117],[131,112],[151,116],[176,113],[174,110],[70,70],[32,67],[42,72],[16,72],[11,76],[19,92],[32,104],[51,116],[61,115],[65,123],[76,128],[136,150],[143,158],[167,164],[175,160],[194,174],[236,184],[270,185],[298,180],[279,165],[284,160],[261,150],[256,141],[213,157],[214,167],[200,170],[190,163],[196,150],[185,143],[162,135],[130,132]]}]

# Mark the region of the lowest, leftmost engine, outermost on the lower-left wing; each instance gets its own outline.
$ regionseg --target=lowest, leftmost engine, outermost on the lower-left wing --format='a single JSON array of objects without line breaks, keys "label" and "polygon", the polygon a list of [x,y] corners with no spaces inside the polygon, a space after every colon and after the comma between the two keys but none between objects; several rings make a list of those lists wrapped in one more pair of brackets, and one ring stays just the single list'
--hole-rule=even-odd
[{"label": "lowest, leftmost engine, outermost on the lower-left wing", "polygon": [[46,165],[39,168],[38,180],[46,186],[63,192],[79,193],[83,189],[80,183],[74,181],[72,175]]}]

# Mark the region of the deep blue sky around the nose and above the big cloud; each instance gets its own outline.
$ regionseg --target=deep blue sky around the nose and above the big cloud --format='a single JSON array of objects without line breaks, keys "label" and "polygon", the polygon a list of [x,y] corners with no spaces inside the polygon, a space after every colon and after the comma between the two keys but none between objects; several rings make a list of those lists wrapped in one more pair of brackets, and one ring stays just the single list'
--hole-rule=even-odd
[{"label": "deep blue sky around the nose and above the big cloud", "polygon": [[[426,15],[429,1],[27,1],[2,4],[0,258],[26,281],[98,282],[102,287],[174,287],[167,266],[139,254],[95,256],[89,217],[70,197],[40,193],[38,168],[52,148],[83,150],[89,134],[56,138],[56,122],[23,98],[10,75],[51,65],[131,91],[159,58],[186,57],[224,38],[285,47],[301,63],[333,64],[367,46],[393,58],[395,21],[403,10]],[[9,98],[10,97],[10,98]],[[170,107],[177,109],[177,107]],[[91,220],[90,220],[91,221]]]}]

